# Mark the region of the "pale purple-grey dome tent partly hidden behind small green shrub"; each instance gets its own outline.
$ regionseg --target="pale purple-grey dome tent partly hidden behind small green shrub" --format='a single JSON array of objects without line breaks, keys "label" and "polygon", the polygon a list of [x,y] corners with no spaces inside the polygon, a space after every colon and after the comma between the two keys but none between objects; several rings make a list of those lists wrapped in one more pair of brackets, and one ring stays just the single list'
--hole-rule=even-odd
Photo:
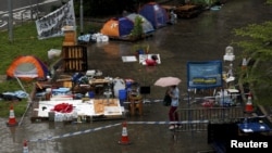
[{"label": "pale purple-grey dome tent partly hidden behind small green shrub", "polygon": [[135,22],[135,18],[137,16],[141,17],[141,21],[143,21],[141,26],[143,26],[144,34],[154,31],[152,24],[145,16],[143,16],[140,14],[132,13],[132,14],[128,14],[126,17],[129,18],[131,21]]}]

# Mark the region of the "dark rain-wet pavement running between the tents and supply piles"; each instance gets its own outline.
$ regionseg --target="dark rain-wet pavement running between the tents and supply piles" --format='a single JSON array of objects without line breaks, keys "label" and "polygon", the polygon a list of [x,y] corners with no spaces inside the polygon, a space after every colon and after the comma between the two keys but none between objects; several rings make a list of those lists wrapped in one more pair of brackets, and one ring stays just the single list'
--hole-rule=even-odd
[{"label": "dark rain-wet pavement running between the tents and supply piles", "polygon": [[[29,114],[16,128],[7,128],[1,118],[1,153],[23,152],[23,140],[28,140],[29,153],[196,153],[211,150],[207,131],[173,132],[166,124],[128,124],[129,145],[119,144],[123,122],[166,122],[168,107],[154,102],[162,99],[164,88],[152,86],[162,76],[176,76],[186,93],[186,64],[191,61],[223,60],[225,47],[234,37],[232,29],[271,20],[271,7],[264,0],[228,0],[219,11],[205,11],[190,20],[158,29],[153,37],[138,42],[109,41],[88,47],[89,69],[100,69],[103,76],[131,78],[141,86],[150,86],[143,116],[88,124],[30,123]],[[158,53],[161,64],[143,66],[138,62],[123,63],[121,56],[134,55],[136,44],[149,44],[150,53]],[[242,50],[234,48],[235,66],[240,63]],[[182,102],[181,107],[186,107]],[[18,119],[18,118],[17,118]]]}]

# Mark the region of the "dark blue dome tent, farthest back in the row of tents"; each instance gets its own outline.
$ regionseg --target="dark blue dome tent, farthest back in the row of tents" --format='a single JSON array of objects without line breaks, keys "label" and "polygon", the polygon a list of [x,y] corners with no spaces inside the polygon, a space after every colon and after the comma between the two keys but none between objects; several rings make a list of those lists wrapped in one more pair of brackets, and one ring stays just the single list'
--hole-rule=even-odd
[{"label": "dark blue dome tent, farthest back in the row of tents", "polygon": [[145,16],[153,26],[160,28],[169,23],[166,10],[156,2],[149,2],[139,9],[139,14]]}]

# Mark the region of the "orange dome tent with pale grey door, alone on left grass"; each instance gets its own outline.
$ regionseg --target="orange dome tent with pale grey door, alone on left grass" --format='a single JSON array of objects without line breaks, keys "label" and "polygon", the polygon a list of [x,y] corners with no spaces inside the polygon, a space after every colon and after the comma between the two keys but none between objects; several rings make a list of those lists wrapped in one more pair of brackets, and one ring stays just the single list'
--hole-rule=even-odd
[{"label": "orange dome tent with pale grey door, alone on left grass", "polygon": [[45,63],[33,55],[22,55],[16,58],[7,69],[8,78],[45,79],[49,74],[49,69]]}]

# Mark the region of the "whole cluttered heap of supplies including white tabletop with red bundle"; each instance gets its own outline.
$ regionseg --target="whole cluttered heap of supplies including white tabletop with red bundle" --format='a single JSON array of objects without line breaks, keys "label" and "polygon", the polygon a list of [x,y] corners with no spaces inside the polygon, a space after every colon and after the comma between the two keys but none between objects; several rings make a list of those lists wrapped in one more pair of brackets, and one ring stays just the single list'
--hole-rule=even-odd
[{"label": "whole cluttered heap of supplies including white tabletop with red bundle", "polygon": [[[96,69],[64,77],[57,79],[58,85],[37,84],[39,101],[35,103],[32,120],[123,118],[126,106],[131,115],[143,115],[140,86],[131,78],[102,77],[102,72]],[[70,86],[64,86],[67,81]]]}]

